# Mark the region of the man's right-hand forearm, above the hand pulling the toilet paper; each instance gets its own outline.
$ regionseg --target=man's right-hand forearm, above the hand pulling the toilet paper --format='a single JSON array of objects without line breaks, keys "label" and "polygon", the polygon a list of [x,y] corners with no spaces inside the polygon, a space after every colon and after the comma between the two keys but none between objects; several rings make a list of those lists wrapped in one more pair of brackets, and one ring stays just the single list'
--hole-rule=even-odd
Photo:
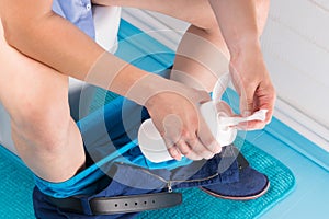
[{"label": "man's right-hand forearm, above the hand pulling the toilet paper", "polygon": [[245,45],[259,44],[256,1],[209,0],[231,55]]}]

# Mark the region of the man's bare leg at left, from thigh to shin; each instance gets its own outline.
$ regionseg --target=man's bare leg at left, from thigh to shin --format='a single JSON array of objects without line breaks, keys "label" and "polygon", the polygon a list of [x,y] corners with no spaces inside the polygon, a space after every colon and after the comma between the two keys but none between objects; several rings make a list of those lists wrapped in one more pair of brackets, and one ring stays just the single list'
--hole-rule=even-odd
[{"label": "man's bare leg at left, from thigh to shin", "polygon": [[63,182],[84,164],[70,117],[68,78],[8,46],[0,20],[0,102],[11,116],[19,155],[39,177]]}]

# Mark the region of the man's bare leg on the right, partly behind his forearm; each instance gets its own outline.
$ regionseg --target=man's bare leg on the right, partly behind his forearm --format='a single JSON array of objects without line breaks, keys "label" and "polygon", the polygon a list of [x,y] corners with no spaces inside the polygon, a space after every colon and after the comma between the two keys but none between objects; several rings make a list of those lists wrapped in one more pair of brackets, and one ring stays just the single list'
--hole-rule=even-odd
[{"label": "man's bare leg on the right, partly behind his forearm", "polygon": [[[93,0],[93,2],[146,9],[191,23],[178,48],[171,74],[173,80],[212,91],[218,76],[228,71],[229,51],[208,0]],[[266,22],[270,1],[256,0],[256,2],[260,36]]]}]

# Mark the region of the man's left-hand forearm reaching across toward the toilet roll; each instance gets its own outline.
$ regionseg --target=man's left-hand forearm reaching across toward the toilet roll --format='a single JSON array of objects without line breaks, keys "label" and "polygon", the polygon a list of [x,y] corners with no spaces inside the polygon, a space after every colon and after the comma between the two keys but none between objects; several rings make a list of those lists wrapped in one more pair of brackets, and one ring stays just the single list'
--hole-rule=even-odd
[{"label": "man's left-hand forearm reaching across toward the toilet roll", "polygon": [[11,46],[64,74],[122,95],[148,74],[105,53],[89,36],[52,11],[30,16],[29,21],[19,15],[2,16],[2,21],[7,24],[4,31]]}]

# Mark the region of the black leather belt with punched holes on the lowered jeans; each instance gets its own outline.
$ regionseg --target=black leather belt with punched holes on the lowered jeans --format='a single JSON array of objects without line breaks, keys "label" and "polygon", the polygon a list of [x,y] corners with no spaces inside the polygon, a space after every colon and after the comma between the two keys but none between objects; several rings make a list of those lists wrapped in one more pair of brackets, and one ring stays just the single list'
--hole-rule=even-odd
[{"label": "black leather belt with punched holes on the lowered jeans", "polygon": [[[48,199],[60,209],[84,215],[84,210],[79,198],[54,198],[48,196]],[[181,203],[181,193],[152,193],[129,196],[98,197],[91,199],[89,205],[93,215],[113,215],[169,208]]]}]

